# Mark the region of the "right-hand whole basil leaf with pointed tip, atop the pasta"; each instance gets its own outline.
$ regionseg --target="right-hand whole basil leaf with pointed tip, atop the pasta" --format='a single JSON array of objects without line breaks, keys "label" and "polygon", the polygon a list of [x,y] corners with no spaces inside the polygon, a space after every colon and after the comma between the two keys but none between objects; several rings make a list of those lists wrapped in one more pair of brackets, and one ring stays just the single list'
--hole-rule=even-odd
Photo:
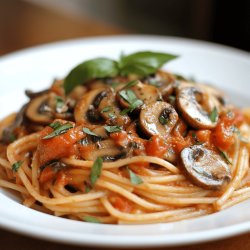
[{"label": "right-hand whole basil leaf with pointed tip, atop the pasta", "polygon": [[123,76],[129,74],[147,76],[155,73],[157,69],[175,58],[177,58],[176,55],[152,51],[122,55],[119,62],[120,74]]}]

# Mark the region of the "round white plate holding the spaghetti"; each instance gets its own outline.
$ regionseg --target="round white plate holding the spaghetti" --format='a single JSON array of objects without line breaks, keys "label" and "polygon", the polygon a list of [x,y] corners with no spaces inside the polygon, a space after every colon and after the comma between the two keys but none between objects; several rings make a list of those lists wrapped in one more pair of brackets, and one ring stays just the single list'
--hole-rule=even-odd
[{"label": "round white plate holding the spaghetti", "polygon": [[[236,49],[180,38],[116,36],[79,39],[35,47],[0,59],[0,116],[18,110],[24,89],[39,90],[64,77],[76,64],[97,56],[154,50],[180,55],[170,71],[211,82],[250,106],[250,55]],[[94,246],[173,246],[215,240],[249,231],[250,200],[222,212],[186,221],[154,225],[101,225],[71,221],[26,208],[0,189],[0,225],[30,236]]]}]

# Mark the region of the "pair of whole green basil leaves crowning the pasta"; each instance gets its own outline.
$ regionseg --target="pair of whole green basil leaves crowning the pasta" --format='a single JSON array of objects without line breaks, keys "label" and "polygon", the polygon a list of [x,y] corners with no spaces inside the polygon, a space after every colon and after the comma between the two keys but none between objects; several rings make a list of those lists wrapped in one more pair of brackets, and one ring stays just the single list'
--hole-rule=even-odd
[{"label": "pair of whole green basil leaves crowning the pasta", "polygon": [[176,55],[142,51],[122,55],[119,61],[108,58],[96,58],[85,61],[73,68],[64,80],[64,90],[69,94],[77,85],[85,84],[96,78],[118,75],[137,75],[145,77],[154,74],[165,63],[177,58]]}]

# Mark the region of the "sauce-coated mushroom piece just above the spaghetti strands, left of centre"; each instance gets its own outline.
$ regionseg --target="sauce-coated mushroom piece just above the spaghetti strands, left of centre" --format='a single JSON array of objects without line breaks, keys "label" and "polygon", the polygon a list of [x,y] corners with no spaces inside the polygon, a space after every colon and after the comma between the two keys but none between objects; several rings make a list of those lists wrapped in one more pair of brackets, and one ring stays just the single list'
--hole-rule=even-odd
[{"label": "sauce-coated mushroom piece just above the spaghetti strands, left of centre", "polygon": [[104,161],[114,161],[126,156],[126,151],[120,149],[111,139],[99,141],[93,144],[93,150],[80,150],[81,157],[85,160],[94,161],[101,157]]}]

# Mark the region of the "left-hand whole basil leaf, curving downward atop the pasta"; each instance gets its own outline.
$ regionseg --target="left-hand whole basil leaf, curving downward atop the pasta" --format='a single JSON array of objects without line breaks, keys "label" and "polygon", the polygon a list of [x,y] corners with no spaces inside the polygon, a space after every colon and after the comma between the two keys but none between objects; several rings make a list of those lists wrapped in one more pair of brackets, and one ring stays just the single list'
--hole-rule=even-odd
[{"label": "left-hand whole basil leaf, curving downward atop the pasta", "polygon": [[96,58],[85,61],[73,68],[64,80],[65,93],[68,94],[77,85],[91,79],[114,77],[118,75],[118,64],[108,58]]}]

